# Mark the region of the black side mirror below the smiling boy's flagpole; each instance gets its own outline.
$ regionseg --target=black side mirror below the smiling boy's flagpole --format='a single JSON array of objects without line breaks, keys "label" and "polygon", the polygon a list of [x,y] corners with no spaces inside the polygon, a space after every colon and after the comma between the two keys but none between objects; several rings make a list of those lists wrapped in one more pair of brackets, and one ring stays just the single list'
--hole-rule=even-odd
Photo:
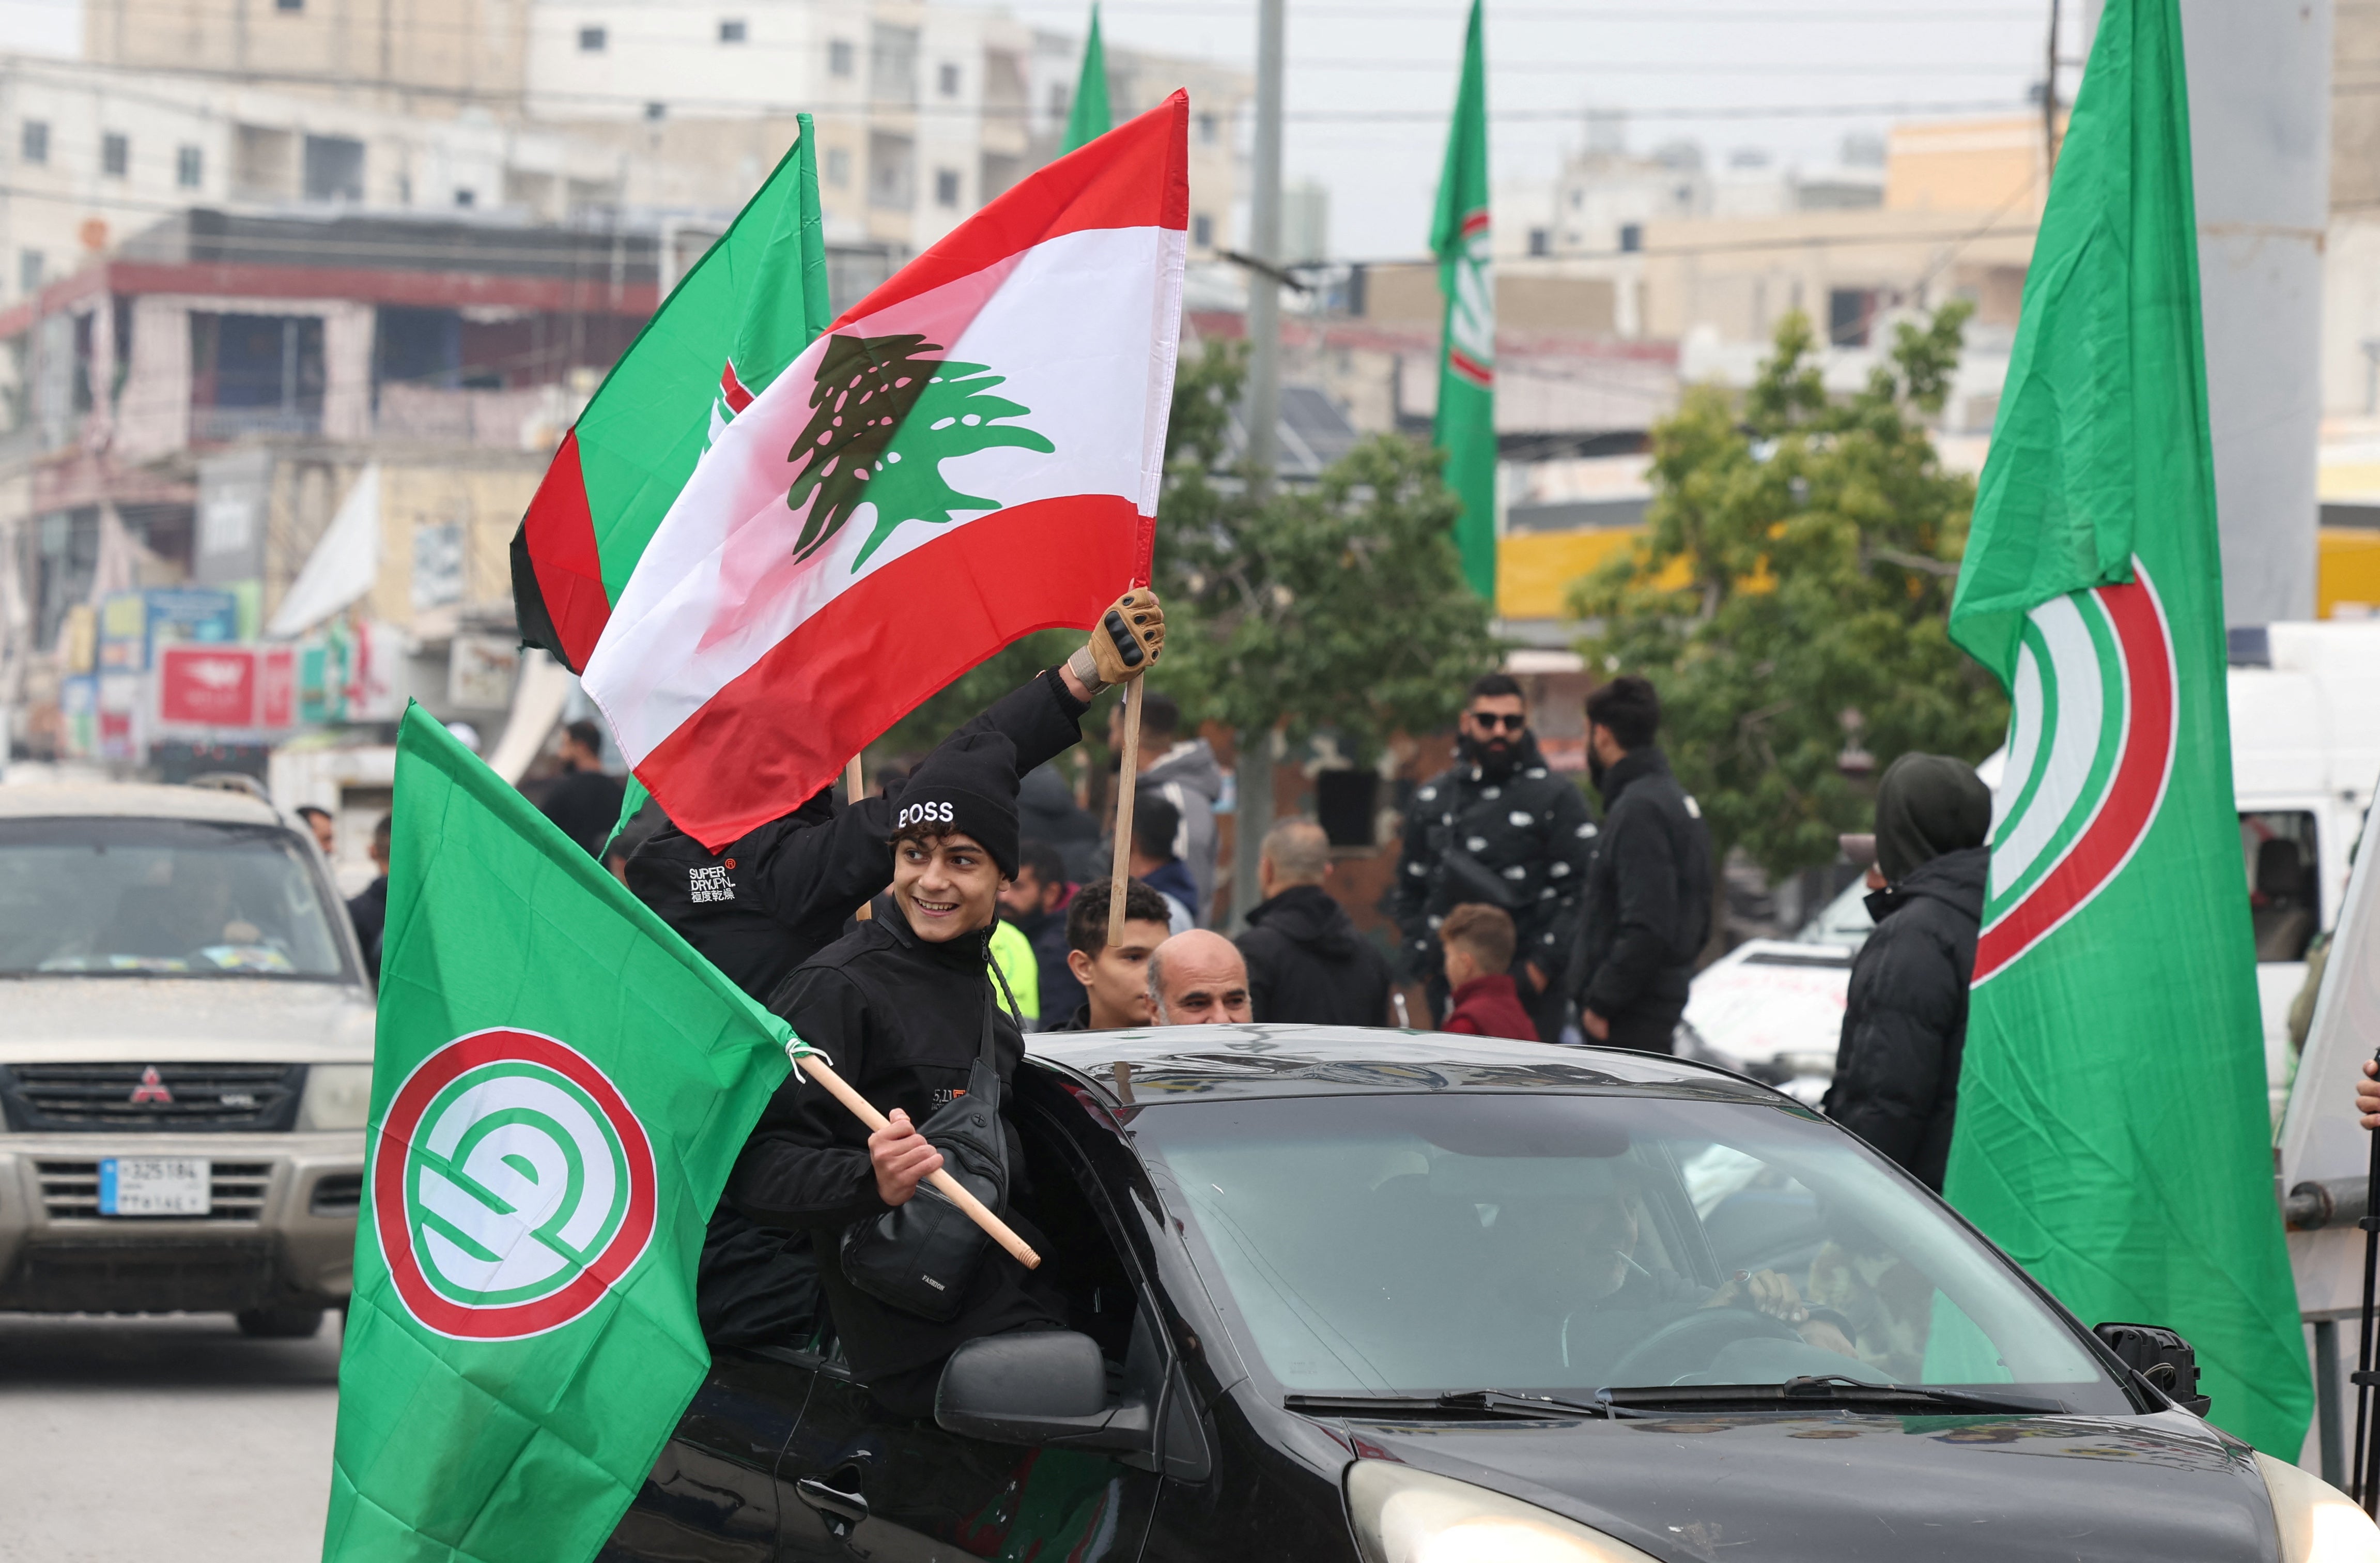
[{"label": "black side mirror below the smiling boy's flagpole", "polygon": [[1145,1404],[1107,1399],[1107,1361],[1088,1335],[1016,1330],[950,1354],[933,1420],[992,1444],[1147,1449],[1154,1416]]}]

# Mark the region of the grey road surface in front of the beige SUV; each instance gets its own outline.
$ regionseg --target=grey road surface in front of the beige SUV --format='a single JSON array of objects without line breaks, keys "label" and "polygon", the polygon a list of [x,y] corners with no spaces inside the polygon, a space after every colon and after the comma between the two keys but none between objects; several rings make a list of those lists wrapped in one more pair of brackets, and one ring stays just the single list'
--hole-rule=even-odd
[{"label": "grey road surface in front of the beige SUV", "polygon": [[0,1313],[0,1563],[314,1563],[336,1418],[338,1313]]}]

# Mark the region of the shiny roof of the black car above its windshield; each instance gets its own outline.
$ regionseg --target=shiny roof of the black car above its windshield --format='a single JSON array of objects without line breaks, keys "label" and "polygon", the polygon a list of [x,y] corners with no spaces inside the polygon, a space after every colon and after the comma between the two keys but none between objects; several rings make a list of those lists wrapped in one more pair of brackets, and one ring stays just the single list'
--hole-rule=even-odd
[{"label": "shiny roof of the black car above its windshield", "polygon": [[1552,1090],[1795,1104],[1723,1068],[1614,1047],[1366,1025],[1166,1025],[1035,1032],[1026,1054],[1076,1075],[1111,1106],[1197,1097],[1311,1097],[1442,1090]]}]

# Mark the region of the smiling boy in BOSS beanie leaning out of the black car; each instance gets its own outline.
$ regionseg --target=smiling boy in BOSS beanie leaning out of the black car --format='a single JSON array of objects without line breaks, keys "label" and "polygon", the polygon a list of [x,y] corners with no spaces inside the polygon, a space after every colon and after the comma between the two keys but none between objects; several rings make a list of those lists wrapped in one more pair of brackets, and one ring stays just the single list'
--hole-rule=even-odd
[{"label": "smiling boy in BOSS beanie leaning out of the black car", "polygon": [[[909,776],[895,833],[892,895],[804,961],[769,1004],[885,1111],[890,1128],[871,1135],[795,1073],[762,1111],[728,1199],[762,1228],[812,1235],[828,1256],[819,1282],[852,1370],[895,1416],[931,1416],[942,1363],[964,1342],[1066,1327],[1042,1278],[990,1244],[971,1275],[952,1278],[962,1304],[940,1323],[859,1289],[838,1258],[857,1223],[907,1204],[942,1166],[916,1125],[969,1097],[985,1013],[1002,1087],[1023,1059],[1023,1032],[995,1002],[985,963],[1000,880],[1016,871],[1014,745],[997,733],[945,742]],[[997,1128],[1014,1187],[1023,1154],[1004,1111]],[[1002,1213],[1038,1244],[1028,1223]]]}]

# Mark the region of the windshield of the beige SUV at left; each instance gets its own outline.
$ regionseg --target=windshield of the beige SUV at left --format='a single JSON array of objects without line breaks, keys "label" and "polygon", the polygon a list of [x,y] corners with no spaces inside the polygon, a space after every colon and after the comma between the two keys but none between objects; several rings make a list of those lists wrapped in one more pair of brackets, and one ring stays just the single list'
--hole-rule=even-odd
[{"label": "windshield of the beige SUV at left", "polygon": [[343,978],[338,906],[278,826],[0,821],[0,975]]}]

